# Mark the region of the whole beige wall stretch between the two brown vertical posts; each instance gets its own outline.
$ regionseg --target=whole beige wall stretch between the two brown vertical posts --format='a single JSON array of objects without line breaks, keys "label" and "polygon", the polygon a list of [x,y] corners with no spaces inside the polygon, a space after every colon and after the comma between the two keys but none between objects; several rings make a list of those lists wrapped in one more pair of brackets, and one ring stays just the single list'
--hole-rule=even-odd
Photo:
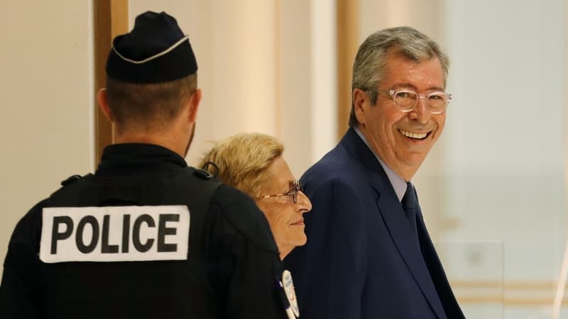
[{"label": "whole beige wall stretch between the two brown vertical posts", "polygon": [[189,164],[210,141],[256,131],[283,141],[300,177],[334,145],[332,2],[130,1],[131,26],[143,11],[166,11],[190,35],[203,100]]}]

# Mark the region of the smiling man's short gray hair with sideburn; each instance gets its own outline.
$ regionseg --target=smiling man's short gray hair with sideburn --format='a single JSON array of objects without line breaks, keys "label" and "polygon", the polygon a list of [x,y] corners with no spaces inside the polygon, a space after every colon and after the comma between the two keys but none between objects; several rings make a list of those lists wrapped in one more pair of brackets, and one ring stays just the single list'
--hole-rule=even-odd
[{"label": "smiling man's short gray hair with sideburn", "polygon": [[[366,38],[361,44],[353,64],[353,80],[351,94],[354,89],[367,91],[371,96],[371,105],[375,105],[379,82],[383,79],[386,66],[386,56],[393,48],[396,54],[403,55],[413,62],[430,60],[438,57],[444,72],[444,87],[449,68],[449,58],[440,50],[439,45],[427,35],[407,26],[388,28],[377,31]],[[355,127],[359,122],[355,117],[355,107],[351,99],[351,115],[349,126]]]}]

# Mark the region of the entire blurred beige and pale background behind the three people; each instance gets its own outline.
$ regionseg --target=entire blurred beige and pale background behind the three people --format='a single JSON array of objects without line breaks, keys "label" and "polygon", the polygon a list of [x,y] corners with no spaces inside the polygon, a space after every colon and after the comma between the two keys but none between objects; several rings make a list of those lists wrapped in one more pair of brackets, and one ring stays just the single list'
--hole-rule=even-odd
[{"label": "entire blurred beige and pale background behind the three people", "polygon": [[[414,182],[468,318],[553,318],[567,240],[568,0],[6,0],[0,4],[0,258],[17,221],[96,169],[111,35],[175,16],[203,101],[187,156],[275,135],[300,177],[337,143],[359,44],[407,25],[449,54],[447,126]],[[104,72],[104,70],[103,70]],[[568,298],[559,318],[568,318]]]}]

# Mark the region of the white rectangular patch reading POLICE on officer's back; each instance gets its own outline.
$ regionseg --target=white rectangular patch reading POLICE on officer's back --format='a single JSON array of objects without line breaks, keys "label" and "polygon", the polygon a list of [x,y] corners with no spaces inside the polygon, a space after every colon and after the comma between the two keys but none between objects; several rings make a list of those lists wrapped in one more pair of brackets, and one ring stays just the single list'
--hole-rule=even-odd
[{"label": "white rectangular patch reading POLICE on officer's back", "polygon": [[187,259],[187,206],[43,208],[42,262]]}]

